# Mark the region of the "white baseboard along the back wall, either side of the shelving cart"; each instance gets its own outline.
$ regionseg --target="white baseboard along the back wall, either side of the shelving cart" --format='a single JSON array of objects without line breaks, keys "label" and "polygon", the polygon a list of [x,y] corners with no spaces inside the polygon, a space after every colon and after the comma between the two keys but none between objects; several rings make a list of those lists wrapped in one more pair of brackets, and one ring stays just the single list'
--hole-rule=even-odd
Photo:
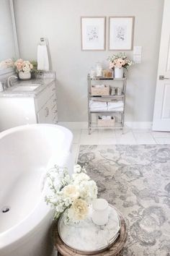
[{"label": "white baseboard along the back wall, either side of the shelving cart", "polygon": [[[87,129],[87,121],[59,121],[59,125],[68,129]],[[131,129],[151,129],[151,121],[126,121],[125,126]]]}]

